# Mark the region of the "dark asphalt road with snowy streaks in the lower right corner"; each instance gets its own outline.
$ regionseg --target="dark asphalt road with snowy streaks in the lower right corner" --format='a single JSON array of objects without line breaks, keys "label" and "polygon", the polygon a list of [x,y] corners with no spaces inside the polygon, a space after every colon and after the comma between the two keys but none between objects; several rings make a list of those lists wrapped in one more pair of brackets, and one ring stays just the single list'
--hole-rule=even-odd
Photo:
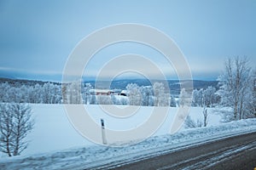
[{"label": "dark asphalt road with snowy streaks in the lower right corner", "polygon": [[111,169],[252,169],[256,167],[256,133],[191,146]]}]

